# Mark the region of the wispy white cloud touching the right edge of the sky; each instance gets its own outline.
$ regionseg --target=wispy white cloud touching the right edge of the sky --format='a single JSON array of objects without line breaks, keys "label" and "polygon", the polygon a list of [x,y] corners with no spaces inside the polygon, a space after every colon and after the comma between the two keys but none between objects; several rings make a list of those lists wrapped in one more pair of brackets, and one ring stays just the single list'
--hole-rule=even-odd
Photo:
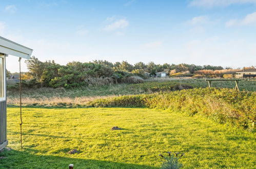
[{"label": "wispy white cloud touching the right edge of the sky", "polygon": [[231,19],[226,22],[226,27],[256,25],[256,12],[246,15],[243,19]]}]

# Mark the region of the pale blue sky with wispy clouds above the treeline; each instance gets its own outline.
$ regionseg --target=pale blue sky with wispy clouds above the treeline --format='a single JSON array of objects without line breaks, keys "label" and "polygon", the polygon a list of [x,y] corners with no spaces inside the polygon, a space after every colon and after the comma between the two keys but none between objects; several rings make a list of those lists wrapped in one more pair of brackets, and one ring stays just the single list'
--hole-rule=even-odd
[{"label": "pale blue sky with wispy clouds above the treeline", "polygon": [[[256,65],[256,0],[0,0],[0,7],[0,36],[43,61]],[[17,66],[8,57],[7,69]]]}]

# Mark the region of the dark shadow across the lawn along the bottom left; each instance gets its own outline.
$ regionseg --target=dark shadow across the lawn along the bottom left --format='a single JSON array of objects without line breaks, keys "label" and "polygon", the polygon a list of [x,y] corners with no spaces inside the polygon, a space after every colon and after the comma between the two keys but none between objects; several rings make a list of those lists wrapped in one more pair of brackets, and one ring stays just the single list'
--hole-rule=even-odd
[{"label": "dark shadow across the lawn along the bottom left", "polygon": [[139,164],[76,159],[68,154],[69,157],[35,155],[31,149],[4,151],[0,156],[5,157],[0,159],[0,168],[68,168],[69,164],[74,164],[74,168],[157,168]]}]

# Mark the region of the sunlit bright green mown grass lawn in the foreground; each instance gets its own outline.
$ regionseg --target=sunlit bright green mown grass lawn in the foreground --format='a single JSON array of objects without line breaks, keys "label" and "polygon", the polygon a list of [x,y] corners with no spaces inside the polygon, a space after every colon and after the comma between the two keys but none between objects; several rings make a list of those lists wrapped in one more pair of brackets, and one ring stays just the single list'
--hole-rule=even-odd
[{"label": "sunlit bright green mown grass lawn in the foreground", "polygon": [[[150,109],[24,108],[21,150],[18,112],[8,108],[13,150],[0,153],[0,168],[157,168],[168,151],[185,153],[185,168],[256,166],[254,133]],[[72,149],[80,153],[67,154]]]}]

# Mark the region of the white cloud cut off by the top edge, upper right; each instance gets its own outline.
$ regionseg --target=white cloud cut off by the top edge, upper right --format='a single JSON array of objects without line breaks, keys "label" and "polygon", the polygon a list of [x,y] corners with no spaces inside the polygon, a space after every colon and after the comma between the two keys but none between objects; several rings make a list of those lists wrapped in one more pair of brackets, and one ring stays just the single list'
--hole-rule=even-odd
[{"label": "white cloud cut off by the top edge, upper right", "polygon": [[195,7],[212,8],[242,4],[256,4],[256,0],[193,0],[189,5]]}]

